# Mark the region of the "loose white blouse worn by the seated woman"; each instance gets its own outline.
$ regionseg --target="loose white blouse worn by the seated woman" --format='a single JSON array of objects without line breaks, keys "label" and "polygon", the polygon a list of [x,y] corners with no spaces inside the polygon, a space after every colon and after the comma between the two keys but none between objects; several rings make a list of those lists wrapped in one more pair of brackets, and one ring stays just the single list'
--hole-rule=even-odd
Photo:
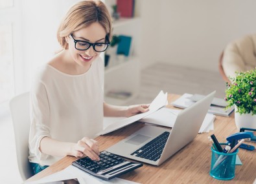
[{"label": "loose white blouse worn by the seated woman", "polygon": [[89,70],[69,75],[45,65],[40,68],[30,92],[29,161],[52,165],[60,157],[40,152],[47,136],[76,143],[95,138],[103,128],[104,64],[98,57]]}]

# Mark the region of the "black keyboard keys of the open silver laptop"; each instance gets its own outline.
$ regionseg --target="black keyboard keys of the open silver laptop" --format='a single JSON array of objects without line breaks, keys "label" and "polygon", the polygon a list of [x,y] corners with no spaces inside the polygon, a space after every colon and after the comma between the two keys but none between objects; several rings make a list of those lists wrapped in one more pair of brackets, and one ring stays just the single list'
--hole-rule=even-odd
[{"label": "black keyboard keys of the open silver laptop", "polygon": [[135,150],[131,155],[157,161],[163,152],[169,134],[170,132],[163,132],[163,134],[146,143],[143,147]]}]

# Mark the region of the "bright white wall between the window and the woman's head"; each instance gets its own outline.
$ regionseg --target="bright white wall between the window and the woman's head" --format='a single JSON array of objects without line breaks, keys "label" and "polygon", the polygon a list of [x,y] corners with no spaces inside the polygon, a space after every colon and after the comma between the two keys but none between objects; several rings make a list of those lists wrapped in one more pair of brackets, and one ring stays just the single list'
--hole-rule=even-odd
[{"label": "bright white wall between the window and the woman's head", "polygon": [[23,85],[22,88],[17,88],[17,94],[30,89],[36,68],[47,63],[54,52],[60,49],[56,32],[62,17],[76,1],[78,0],[22,1],[20,62],[23,66],[18,69],[23,74],[16,76],[16,86],[19,87],[19,81],[23,82]]}]

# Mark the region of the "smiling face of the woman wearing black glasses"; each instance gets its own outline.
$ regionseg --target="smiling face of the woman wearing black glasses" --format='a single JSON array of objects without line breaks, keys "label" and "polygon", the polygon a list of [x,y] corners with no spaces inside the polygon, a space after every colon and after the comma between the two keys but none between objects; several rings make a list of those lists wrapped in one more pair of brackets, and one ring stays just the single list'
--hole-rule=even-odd
[{"label": "smiling face of the woman wearing black glasses", "polygon": [[[86,28],[73,32],[72,36],[75,40],[87,41],[89,43],[104,43],[106,31],[99,23],[95,22]],[[90,46],[87,50],[77,50],[73,38],[71,36],[68,37],[69,54],[78,65],[91,66],[91,63],[99,56],[100,52],[93,50],[93,46]],[[78,47],[78,43],[76,45]]]}]

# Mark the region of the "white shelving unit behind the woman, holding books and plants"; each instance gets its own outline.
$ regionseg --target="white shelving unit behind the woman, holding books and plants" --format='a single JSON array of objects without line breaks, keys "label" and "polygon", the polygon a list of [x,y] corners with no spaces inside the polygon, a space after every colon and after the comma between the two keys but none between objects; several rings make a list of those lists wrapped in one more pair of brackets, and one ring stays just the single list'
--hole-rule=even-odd
[{"label": "white shelving unit behind the woman, holding books and plants", "polygon": [[[103,0],[109,8],[116,5],[116,0]],[[126,0],[124,0],[126,1]],[[138,1],[139,2],[139,1]],[[135,3],[135,6],[138,3]],[[136,9],[136,8],[135,8]],[[139,94],[141,70],[139,49],[141,48],[141,17],[120,17],[113,20],[113,35],[130,36],[132,42],[128,57],[117,55],[117,46],[108,49],[108,66],[104,70],[105,101],[112,105],[127,105]],[[134,57],[135,56],[135,57]],[[110,92],[117,92],[117,94]],[[118,92],[128,92],[130,96],[122,96]]]}]

